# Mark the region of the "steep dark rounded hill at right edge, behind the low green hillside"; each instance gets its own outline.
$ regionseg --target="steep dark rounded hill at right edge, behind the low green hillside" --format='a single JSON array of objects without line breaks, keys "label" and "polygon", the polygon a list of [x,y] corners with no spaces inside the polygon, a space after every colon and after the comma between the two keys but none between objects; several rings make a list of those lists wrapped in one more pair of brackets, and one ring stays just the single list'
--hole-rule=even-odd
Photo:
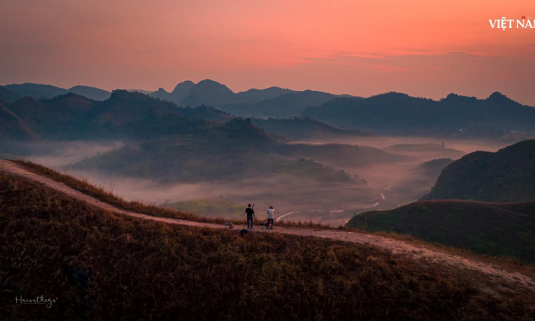
[{"label": "steep dark rounded hill at right edge, behind the low green hillside", "polygon": [[477,151],[447,165],[423,200],[535,200],[535,140]]}]

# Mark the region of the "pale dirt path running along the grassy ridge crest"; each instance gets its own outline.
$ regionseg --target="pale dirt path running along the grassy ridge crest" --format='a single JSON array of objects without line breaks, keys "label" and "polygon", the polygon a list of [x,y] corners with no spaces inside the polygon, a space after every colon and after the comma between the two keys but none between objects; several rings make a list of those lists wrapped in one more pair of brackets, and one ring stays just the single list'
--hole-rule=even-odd
[{"label": "pale dirt path running along the grassy ridge crest", "polygon": [[[152,217],[145,214],[139,214],[134,212],[127,212],[125,210],[120,210],[117,207],[109,205],[104,202],[96,200],[94,197],[78,192],[71,187],[64,185],[63,183],[58,183],[55,180],[45,178],[43,176],[31,173],[30,171],[18,167],[18,165],[11,163],[9,160],[0,160],[0,171],[6,171],[16,175],[21,175],[25,178],[30,178],[31,180],[36,180],[39,183],[63,192],[71,197],[75,197],[78,200],[83,200],[88,202],[90,205],[100,207],[103,210],[108,210],[111,212],[116,212],[120,214],[125,214],[131,217],[139,217],[141,219],[151,219],[157,222],[166,222],[169,224],[181,224],[190,227],[208,227],[211,229],[224,229],[223,224],[210,224],[210,223],[201,223],[201,222],[191,222],[184,219],[168,219],[164,217]],[[396,239],[390,239],[385,236],[377,236],[370,234],[361,234],[358,232],[343,232],[343,231],[332,231],[327,229],[299,229],[291,227],[277,227],[273,230],[266,229],[255,229],[253,232],[261,233],[280,233],[280,234],[289,234],[297,236],[315,236],[322,239],[334,239],[339,241],[348,241],[356,244],[366,244],[371,246],[377,246],[381,249],[386,249],[391,251],[393,254],[404,254],[413,256],[414,259],[428,259],[430,261],[437,261],[449,266],[457,266],[463,268],[469,268],[475,271],[480,271],[489,278],[492,278],[496,281],[507,281],[510,283],[516,283],[517,285],[524,285],[526,288],[535,290],[535,280],[524,276],[524,274],[517,273],[514,271],[505,271],[502,268],[497,266],[490,265],[488,263],[483,263],[480,261],[474,261],[472,259],[467,259],[461,256],[454,256],[451,254],[444,253],[438,249],[430,249],[424,246],[418,246],[415,244],[408,244],[404,241],[399,241]]]}]

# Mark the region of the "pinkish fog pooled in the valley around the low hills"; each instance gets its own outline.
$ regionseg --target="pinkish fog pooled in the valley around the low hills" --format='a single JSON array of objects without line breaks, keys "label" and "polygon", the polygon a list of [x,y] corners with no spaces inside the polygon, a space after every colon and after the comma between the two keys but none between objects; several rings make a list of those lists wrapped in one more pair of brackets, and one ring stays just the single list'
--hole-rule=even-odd
[{"label": "pinkish fog pooled in the valley around the low hills", "polygon": [[[398,144],[415,143],[440,145],[442,142],[443,140],[440,138],[374,137],[314,141],[312,143],[348,143],[386,148]],[[264,210],[272,205],[277,210],[278,215],[292,212],[285,219],[312,219],[339,225],[344,224],[355,213],[370,209],[391,209],[418,200],[430,190],[436,178],[415,174],[413,168],[426,160],[452,157],[449,148],[463,153],[471,153],[473,151],[497,151],[499,148],[511,144],[511,142],[501,141],[444,140],[444,142],[446,148],[443,151],[436,148],[432,148],[433,151],[426,151],[425,148],[420,151],[410,151],[410,156],[415,157],[414,160],[403,163],[371,165],[365,168],[344,168],[347,173],[358,174],[359,178],[366,179],[367,185],[323,184],[290,175],[247,178],[234,183],[205,182],[161,185],[155,180],[126,178],[108,173],[70,173],[88,178],[92,185],[103,187],[126,200],[141,200],[161,205],[164,202],[223,197],[243,204],[244,208],[247,203],[255,203],[255,208],[260,209],[260,213],[265,212]],[[26,159],[64,170],[65,165],[121,146],[123,143],[120,141],[41,142],[33,146],[25,146],[26,149],[23,151],[31,151],[29,155],[26,155]],[[403,151],[398,152],[403,153]],[[463,153],[457,154],[456,158],[461,157]],[[332,164],[324,162],[324,165]],[[336,166],[333,167],[336,168]]]}]

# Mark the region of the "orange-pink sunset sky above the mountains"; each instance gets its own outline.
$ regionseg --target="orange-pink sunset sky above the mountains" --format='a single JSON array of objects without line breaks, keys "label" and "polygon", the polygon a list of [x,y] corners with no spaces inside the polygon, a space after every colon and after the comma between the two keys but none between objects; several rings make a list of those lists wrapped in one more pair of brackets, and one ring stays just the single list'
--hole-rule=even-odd
[{"label": "orange-pink sunset sky above the mountains", "polygon": [[[369,97],[502,92],[535,106],[526,0],[1,0],[0,85],[171,91],[211,79]],[[516,23],[514,26],[516,27]]]}]

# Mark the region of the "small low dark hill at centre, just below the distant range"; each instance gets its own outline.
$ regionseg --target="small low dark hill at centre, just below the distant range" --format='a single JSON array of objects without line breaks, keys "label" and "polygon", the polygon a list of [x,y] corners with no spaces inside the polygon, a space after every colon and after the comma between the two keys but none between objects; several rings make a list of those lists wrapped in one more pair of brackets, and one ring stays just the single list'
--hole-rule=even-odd
[{"label": "small low dark hill at centre, just below the distant range", "polygon": [[272,134],[295,140],[374,136],[358,129],[339,129],[309,118],[251,119],[253,124]]}]

